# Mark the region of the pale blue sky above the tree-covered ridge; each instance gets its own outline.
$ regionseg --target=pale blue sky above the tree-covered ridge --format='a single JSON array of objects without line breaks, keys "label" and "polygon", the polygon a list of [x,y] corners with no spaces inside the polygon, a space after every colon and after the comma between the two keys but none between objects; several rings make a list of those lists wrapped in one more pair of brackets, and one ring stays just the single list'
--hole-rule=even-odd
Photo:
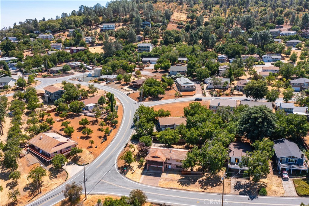
[{"label": "pale blue sky above the tree-covered ridge", "polygon": [[56,15],[61,16],[63,12],[69,14],[76,10],[80,5],[93,6],[100,3],[105,6],[107,1],[0,1],[0,29],[3,27],[13,27],[14,22],[24,22],[26,19],[37,20],[56,18]]}]

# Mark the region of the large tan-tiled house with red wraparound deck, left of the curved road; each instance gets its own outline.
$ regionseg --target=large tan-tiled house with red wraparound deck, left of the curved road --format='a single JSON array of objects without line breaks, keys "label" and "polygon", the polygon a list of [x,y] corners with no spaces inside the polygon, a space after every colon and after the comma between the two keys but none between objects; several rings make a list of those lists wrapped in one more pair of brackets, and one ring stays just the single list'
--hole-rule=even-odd
[{"label": "large tan-tiled house with red wraparound deck, left of the curved road", "polygon": [[57,154],[68,155],[77,142],[54,132],[41,132],[28,141],[30,152],[48,164]]}]

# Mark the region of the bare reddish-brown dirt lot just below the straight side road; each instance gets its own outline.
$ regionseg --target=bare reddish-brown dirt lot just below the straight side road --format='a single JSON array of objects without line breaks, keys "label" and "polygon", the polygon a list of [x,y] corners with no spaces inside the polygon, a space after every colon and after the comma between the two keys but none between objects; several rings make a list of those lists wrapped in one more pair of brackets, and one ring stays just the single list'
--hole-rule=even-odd
[{"label": "bare reddish-brown dirt lot just below the straight side road", "polygon": [[[194,101],[184,101],[184,102],[176,102],[170,104],[156,105],[153,108],[155,110],[165,109],[171,112],[171,117],[183,117],[184,116],[184,107],[189,106],[189,104]],[[209,107],[210,100],[199,101],[201,105],[206,105]],[[177,109],[175,109],[177,108]]]}]

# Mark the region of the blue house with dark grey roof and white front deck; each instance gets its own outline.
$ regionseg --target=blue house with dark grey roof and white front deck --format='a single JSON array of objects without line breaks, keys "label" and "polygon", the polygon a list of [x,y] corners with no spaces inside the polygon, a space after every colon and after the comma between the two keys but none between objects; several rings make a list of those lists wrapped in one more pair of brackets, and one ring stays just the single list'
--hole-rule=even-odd
[{"label": "blue house with dark grey roof and white front deck", "polygon": [[277,163],[277,170],[285,169],[291,172],[305,170],[308,172],[307,159],[303,152],[298,148],[297,144],[287,139],[278,139],[274,141],[273,148],[275,150],[274,159]]}]

